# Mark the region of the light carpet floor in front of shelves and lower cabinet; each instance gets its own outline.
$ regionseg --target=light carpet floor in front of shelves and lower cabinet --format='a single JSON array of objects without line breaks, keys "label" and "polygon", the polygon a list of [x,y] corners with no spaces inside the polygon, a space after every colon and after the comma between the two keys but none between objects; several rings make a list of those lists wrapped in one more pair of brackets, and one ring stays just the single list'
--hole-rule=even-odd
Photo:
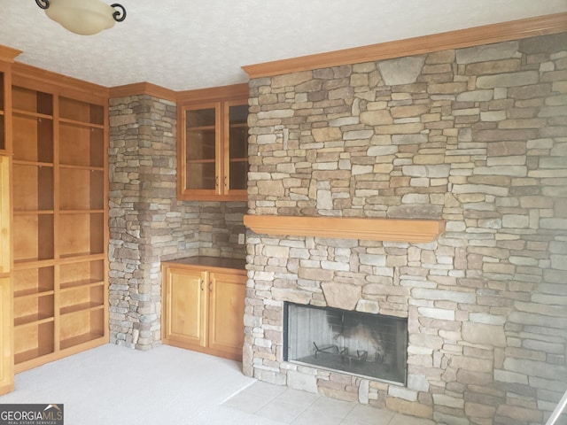
[{"label": "light carpet floor in front of shelves and lower cabinet", "polygon": [[221,406],[254,382],[236,361],[105,344],[16,375],[0,403],[63,404],[66,425],[281,423]]}]

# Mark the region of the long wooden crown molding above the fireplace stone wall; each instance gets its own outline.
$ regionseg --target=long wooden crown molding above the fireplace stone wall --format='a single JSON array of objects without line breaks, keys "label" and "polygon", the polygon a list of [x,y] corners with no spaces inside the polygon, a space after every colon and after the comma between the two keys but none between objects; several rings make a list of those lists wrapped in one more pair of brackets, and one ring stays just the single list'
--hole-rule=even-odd
[{"label": "long wooden crown molding above the fireplace stone wall", "polygon": [[431,53],[432,51],[461,49],[463,47],[507,42],[536,35],[549,35],[567,31],[567,12],[544,15],[535,18],[512,20],[499,24],[485,25],[449,31],[435,35],[408,38],[394,42],[381,42],[353,49],[335,50],[327,53],[302,56],[242,66],[250,79],[297,73],[327,68],[372,62],[375,60],[402,58]]}]

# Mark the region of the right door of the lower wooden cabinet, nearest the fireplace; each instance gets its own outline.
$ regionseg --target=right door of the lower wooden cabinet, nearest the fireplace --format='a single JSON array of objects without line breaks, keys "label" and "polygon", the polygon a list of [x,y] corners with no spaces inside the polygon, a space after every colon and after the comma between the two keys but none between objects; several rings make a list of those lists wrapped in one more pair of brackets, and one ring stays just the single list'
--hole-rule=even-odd
[{"label": "right door of the lower wooden cabinet, nearest the fireplace", "polygon": [[233,359],[242,359],[245,288],[245,274],[210,274],[209,347]]}]

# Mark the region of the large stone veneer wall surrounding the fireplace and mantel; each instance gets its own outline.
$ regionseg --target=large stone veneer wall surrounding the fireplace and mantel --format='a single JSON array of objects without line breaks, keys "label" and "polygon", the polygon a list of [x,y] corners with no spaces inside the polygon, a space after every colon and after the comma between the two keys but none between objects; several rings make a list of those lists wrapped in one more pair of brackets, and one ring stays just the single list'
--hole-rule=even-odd
[{"label": "large stone veneer wall surrounding the fireplace and mantel", "polygon": [[[447,229],[432,243],[249,231],[245,374],[439,423],[543,423],[567,390],[567,34],[250,90],[250,214]],[[283,362],[283,302],[346,298],[408,317],[407,387]]]}]

